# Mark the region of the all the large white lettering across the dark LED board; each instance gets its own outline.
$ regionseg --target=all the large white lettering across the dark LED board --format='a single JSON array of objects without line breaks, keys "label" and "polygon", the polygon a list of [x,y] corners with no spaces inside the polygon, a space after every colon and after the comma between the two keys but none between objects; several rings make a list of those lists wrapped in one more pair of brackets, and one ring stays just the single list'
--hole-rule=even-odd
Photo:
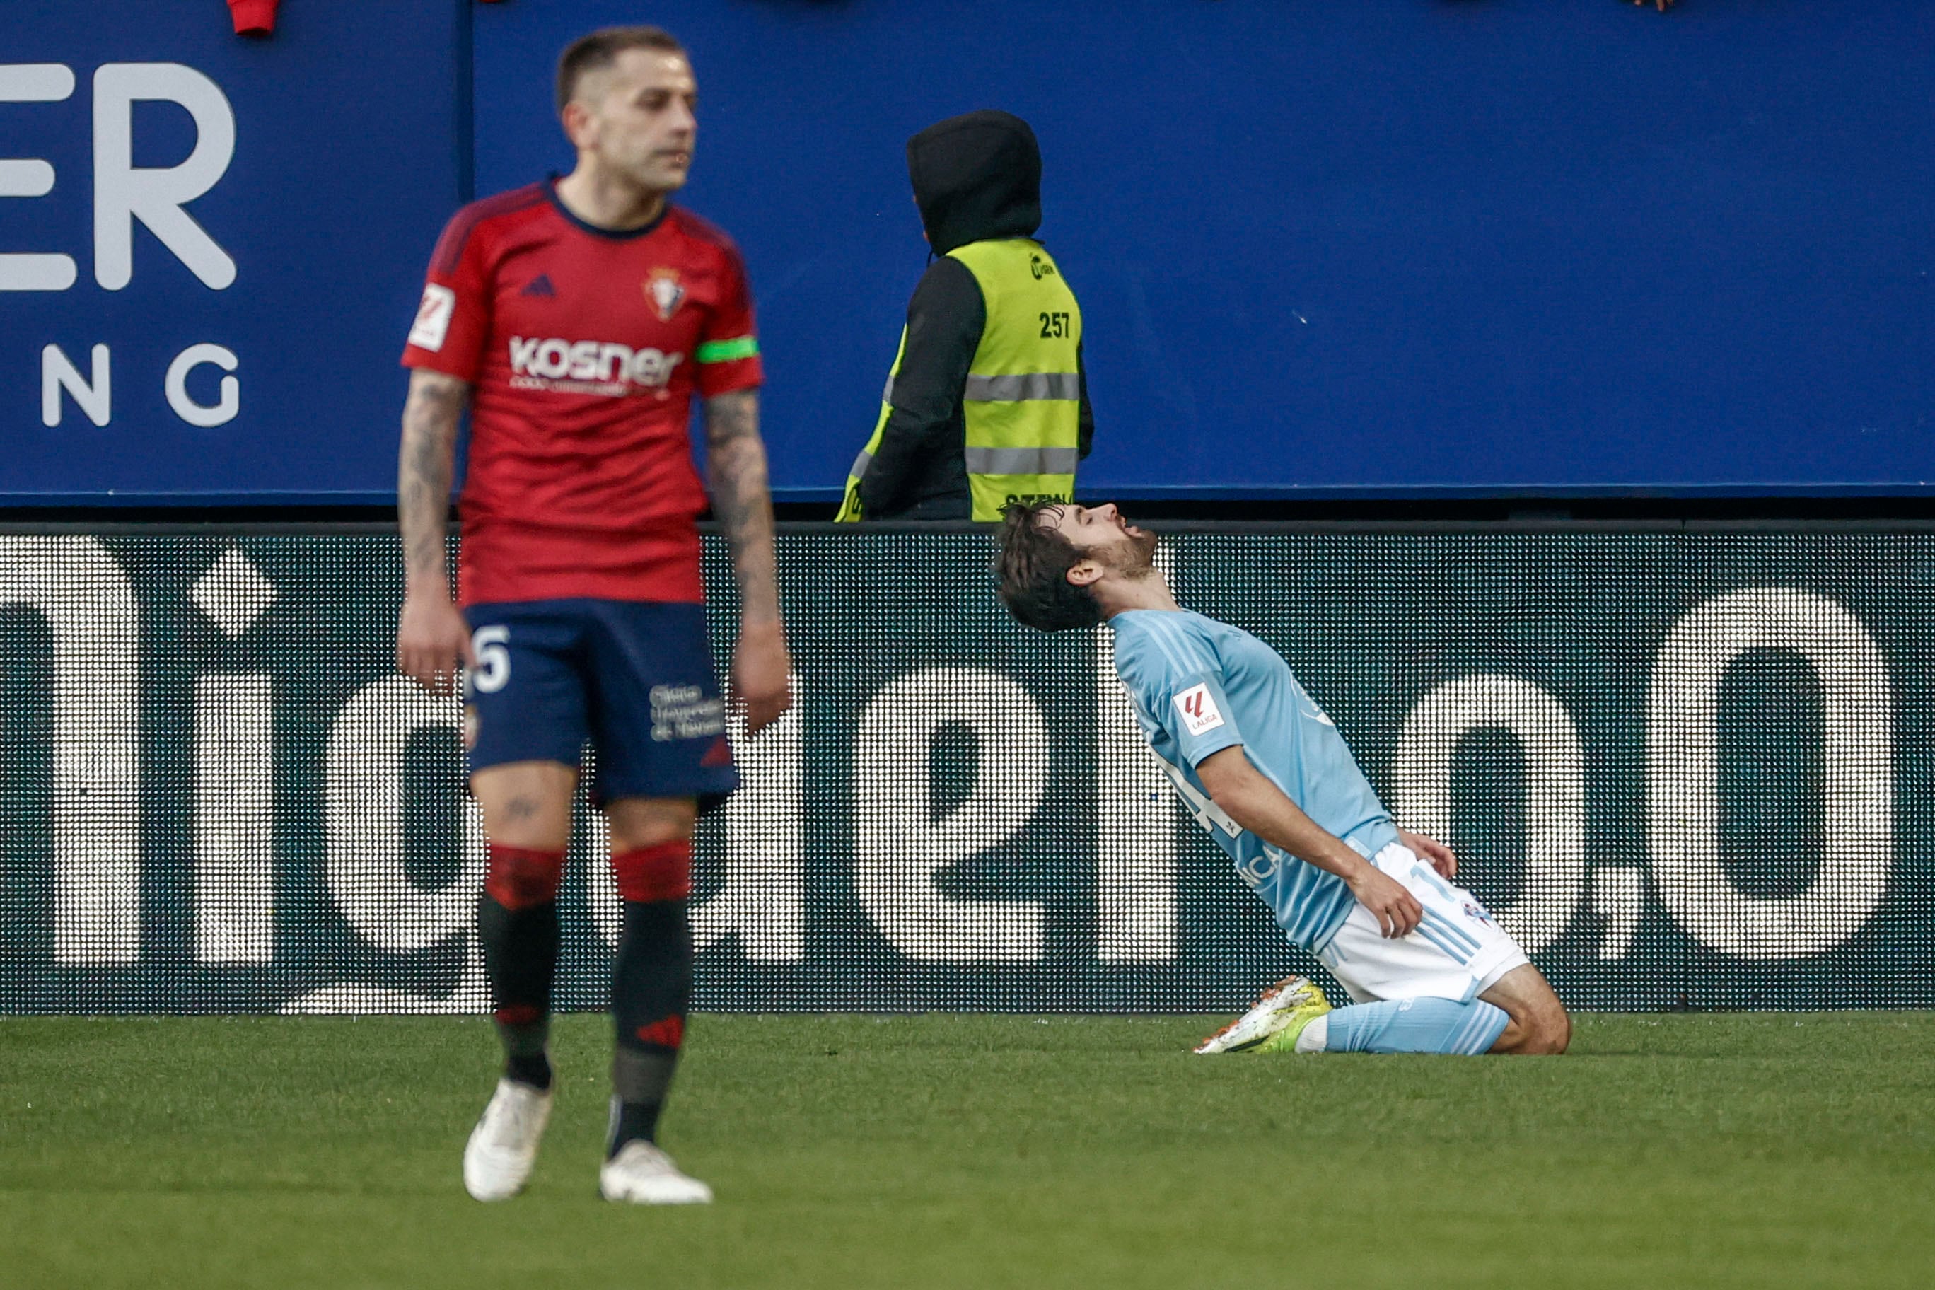
[{"label": "all the large white lettering across the dark LED board", "polygon": [[[141,567],[155,565],[143,561]],[[168,574],[157,576],[163,580],[143,588],[166,588],[166,596],[182,590],[166,580]],[[201,665],[172,658],[170,650],[184,640],[172,617],[163,619],[166,644],[143,650],[141,605],[153,603],[153,596],[135,596],[99,540],[0,538],[0,605],[25,609],[45,625],[52,654],[52,681],[45,687],[52,737],[21,764],[45,760],[50,766],[48,828],[41,834],[33,824],[37,834],[50,836],[54,963],[141,961],[145,816],[155,830],[149,837],[155,847],[149,859],[157,865],[153,880],[168,892],[168,924],[192,932],[194,961],[273,965],[275,865],[284,859],[275,839],[296,837],[308,824],[300,793],[294,795],[296,816],[277,814],[275,783],[284,774],[302,781],[319,776],[327,793],[325,882],[348,928],[391,955],[435,946],[462,950],[464,975],[455,990],[437,996],[339,982],[288,1010],[484,1008],[488,992],[470,936],[484,870],[476,806],[462,806],[455,880],[430,886],[412,878],[404,855],[404,750],[422,731],[441,737],[443,729],[455,729],[457,704],[422,694],[402,677],[379,679],[354,690],[335,716],[319,766],[313,760],[277,766],[277,723],[284,719],[277,704],[288,700],[269,673],[224,671],[223,663],[201,671]],[[277,588],[236,547],[224,551],[188,596],[228,642],[240,642],[267,605],[296,607],[294,598],[281,601]],[[308,619],[292,619],[292,625],[296,621]],[[21,632],[14,632],[14,640],[19,638]],[[45,652],[46,646],[29,650]],[[1720,690],[1730,669],[1757,650],[1805,660],[1823,696],[1825,853],[1807,888],[1780,897],[1742,890],[1745,884],[1730,878],[1738,872],[1728,866],[1732,857],[1720,853]],[[147,694],[139,673],[143,656],[161,660],[155,663],[159,689]],[[1113,689],[1103,644],[1095,646],[1095,661],[1097,690],[1082,696],[1084,704],[1093,698],[1097,718],[1095,961],[1175,961],[1180,938],[1175,814],[1167,793],[1151,795],[1163,768],[1142,748],[1126,719],[1128,708]],[[184,677],[184,665],[195,675]],[[689,687],[664,687],[654,698],[670,706],[697,702]],[[298,702],[292,718],[300,727],[310,719],[310,700]],[[157,772],[163,797],[155,801],[143,799],[143,714],[151,714],[149,729],[159,731],[145,754],[163,768]],[[1867,926],[1896,878],[1892,718],[1887,658],[1861,621],[1825,596],[1747,588],[1716,596],[1682,617],[1652,660],[1647,692],[1645,828],[1651,886],[1664,911],[1693,940],[1745,963],[1823,953]],[[1749,719],[1765,727],[1765,718]],[[937,785],[929,766],[937,737],[950,727],[971,735],[977,774],[962,806],[935,820]],[[1399,731],[1391,803],[1407,824],[1449,832],[1453,812],[1463,806],[1451,799],[1451,766],[1461,743],[1478,729],[1511,733],[1525,758],[1527,886],[1511,909],[1498,911],[1500,921],[1527,950],[1550,950],[1562,936],[1577,934],[1569,923],[1589,907],[1606,919],[1598,959],[1625,957],[1641,919],[1658,913],[1645,870],[1585,868],[1583,741],[1573,714],[1552,692],[1502,673],[1459,677],[1432,689]],[[192,731],[186,748],[176,739],[184,731]],[[714,952],[735,942],[729,952],[751,963],[801,963],[807,957],[807,897],[799,710],[759,741],[745,741],[737,721],[729,723],[728,737],[737,745],[745,787],[724,812],[724,882],[706,901],[695,903],[695,940]],[[313,752],[300,752],[306,743],[298,739],[294,748],[313,758]],[[1010,847],[1035,818],[1049,770],[1043,712],[1010,677],[977,667],[931,667],[894,679],[873,696],[853,745],[851,890],[888,944],[917,963],[1041,961],[1045,907],[1039,901],[964,899],[944,870]],[[1169,768],[1169,774],[1206,828],[1236,832],[1180,770]],[[1618,774],[1614,766],[1594,783],[1612,783],[1608,799],[1620,814],[1608,820],[1608,832],[1623,836],[1639,820],[1625,805],[1633,785],[1616,781]],[[39,791],[29,799],[43,801]],[[1080,810],[1084,806],[1076,806],[1078,820]],[[602,816],[592,814],[590,824],[602,830]],[[1057,828],[1068,824],[1062,818]],[[594,843],[600,863],[588,872],[592,915],[604,938],[615,942],[619,909],[604,853],[600,836]],[[29,859],[35,857],[29,853]],[[1058,857],[1018,859],[1053,865]],[[1271,849],[1242,876],[1256,882],[1283,863],[1289,861]],[[176,923],[174,892],[184,888],[194,903]],[[31,907],[33,917],[39,907]],[[1656,946],[1641,952],[1658,953]]]}]

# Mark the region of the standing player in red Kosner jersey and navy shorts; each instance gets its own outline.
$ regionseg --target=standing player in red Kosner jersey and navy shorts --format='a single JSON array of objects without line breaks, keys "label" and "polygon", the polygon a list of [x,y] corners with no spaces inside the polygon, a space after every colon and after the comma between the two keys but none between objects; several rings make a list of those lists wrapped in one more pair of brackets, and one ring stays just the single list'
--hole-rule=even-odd
[{"label": "standing player in red Kosner jersey and navy shorts", "polygon": [[[726,234],[668,203],[693,161],[695,104],[668,33],[611,27],[573,43],[557,106],[577,166],[457,213],[402,356],[397,665],[441,692],[468,665],[470,789],[490,839],[478,936],[505,1071],[464,1149],[480,1201],[524,1186],[550,1116],[557,886],[584,741],[625,903],[600,1189],[712,1199],[654,1143],[691,998],[693,822],[737,785],[699,582],[695,396],[743,603],[731,692],[747,731],[778,719],[791,692],[745,267]],[[453,603],[443,540],[466,400]]]}]

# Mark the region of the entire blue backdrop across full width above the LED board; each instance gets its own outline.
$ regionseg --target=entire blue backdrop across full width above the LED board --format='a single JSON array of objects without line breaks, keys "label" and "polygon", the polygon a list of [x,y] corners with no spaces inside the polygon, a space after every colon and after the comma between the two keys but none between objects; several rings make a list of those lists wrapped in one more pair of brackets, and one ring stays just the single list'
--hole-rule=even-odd
[{"label": "entire blue backdrop across full width above the LED board", "polygon": [[[1935,480],[1920,0],[27,0],[0,48],[0,503],[387,503],[445,219],[571,164],[563,44],[693,52],[685,201],[830,501],[927,248],[904,143],[1029,118],[1124,497]],[[472,182],[474,178],[474,182]]]}]

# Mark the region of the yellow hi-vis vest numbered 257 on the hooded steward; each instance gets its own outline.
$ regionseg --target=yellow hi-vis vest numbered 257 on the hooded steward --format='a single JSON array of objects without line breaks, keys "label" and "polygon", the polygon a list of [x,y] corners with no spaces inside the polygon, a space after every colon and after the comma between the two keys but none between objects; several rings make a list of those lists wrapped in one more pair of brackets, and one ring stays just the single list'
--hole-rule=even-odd
[{"label": "yellow hi-vis vest numbered 257 on the hooded steward", "polygon": [[[1039,242],[1002,238],[948,251],[981,286],[987,325],[968,364],[962,420],[968,429],[968,489],[975,520],[998,520],[1014,499],[1074,501],[1082,431],[1082,306]],[[908,352],[900,331],[894,369],[880,395],[880,420],[853,458],[836,520],[857,520],[859,480],[894,414],[894,377]]]}]

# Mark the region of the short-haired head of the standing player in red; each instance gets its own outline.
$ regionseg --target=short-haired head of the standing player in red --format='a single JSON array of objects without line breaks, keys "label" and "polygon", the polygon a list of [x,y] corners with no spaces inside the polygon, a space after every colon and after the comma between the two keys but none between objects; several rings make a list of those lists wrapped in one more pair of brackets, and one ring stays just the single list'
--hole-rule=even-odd
[{"label": "short-haired head of the standing player in red", "polygon": [[557,60],[557,114],[580,164],[654,191],[685,186],[699,139],[699,81],[662,27],[604,27]]}]

